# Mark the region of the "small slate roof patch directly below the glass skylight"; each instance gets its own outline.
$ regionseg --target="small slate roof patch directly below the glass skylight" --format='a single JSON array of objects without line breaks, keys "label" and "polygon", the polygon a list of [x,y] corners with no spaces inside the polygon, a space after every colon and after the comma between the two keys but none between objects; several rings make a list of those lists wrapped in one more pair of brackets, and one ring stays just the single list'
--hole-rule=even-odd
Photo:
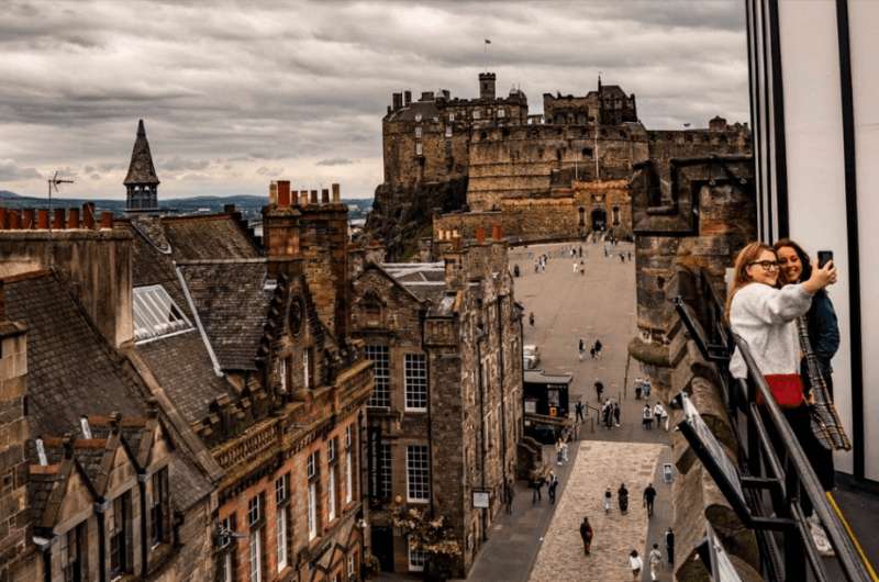
[{"label": "small slate roof patch directly below the glass skylight", "polygon": [[232,395],[230,383],[214,373],[198,332],[143,344],[137,352],[190,424],[208,415],[216,396]]}]

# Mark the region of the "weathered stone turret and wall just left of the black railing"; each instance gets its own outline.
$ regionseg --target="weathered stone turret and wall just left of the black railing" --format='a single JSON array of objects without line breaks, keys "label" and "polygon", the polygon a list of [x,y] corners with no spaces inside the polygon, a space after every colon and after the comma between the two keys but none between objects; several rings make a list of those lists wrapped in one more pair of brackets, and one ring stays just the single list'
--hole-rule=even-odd
[{"label": "weathered stone turret and wall just left of the black railing", "polygon": [[[726,269],[756,237],[754,167],[750,157],[711,157],[672,160],[667,171],[671,180],[660,180],[647,161],[636,166],[632,180],[638,333],[628,349],[664,403],[681,390],[688,393],[736,462],[739,443],[715,362],[702,357],[672,299],[680,296],[696,322],[717,321],[708,295],[725,296]],[[680,410],[668,410],[672,423],[681,419]],[[743,525],[680,432],[672,436],[672,459],[675,579],[710,578],[693,559],[710,524],[742,580],[761,580],[754,530]]]}]

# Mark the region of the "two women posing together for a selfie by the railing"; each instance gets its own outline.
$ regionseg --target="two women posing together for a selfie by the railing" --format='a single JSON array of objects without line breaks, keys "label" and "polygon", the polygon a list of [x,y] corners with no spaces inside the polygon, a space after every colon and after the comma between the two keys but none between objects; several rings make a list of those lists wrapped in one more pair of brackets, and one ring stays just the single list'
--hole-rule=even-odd
[{"label": "two women posing together for a selfie by the railing", "polygon": [[[839,328],[826,288],[836,282],[836,267],[833,260],[813,262],[800,245],[782,239],[774,246],[748,244],[738,253],[734,271],[725,310],[730,327],[747,344],[821,484],[831,491],[833,450],[850,446],[833,406],[831,358],[839,347]],[[748,376],[738,349],[730,372],[734,378]],[[775,449],[783,454],[774,424],[764,422]],[[815,547],[832,556],[809,496],[801,495],[800,503]]]}]

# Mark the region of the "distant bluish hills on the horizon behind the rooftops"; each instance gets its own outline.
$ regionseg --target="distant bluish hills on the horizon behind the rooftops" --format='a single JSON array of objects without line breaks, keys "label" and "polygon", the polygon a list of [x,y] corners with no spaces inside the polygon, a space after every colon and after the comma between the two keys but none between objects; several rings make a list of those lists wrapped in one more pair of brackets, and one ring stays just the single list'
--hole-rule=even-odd
[{"label": "distant bluish hills on the horizon behind the rooftops", "polygon": [[[84,199],[84,198],[53,198],[52,205],[54,208],[77,208],[86,202],[94,202],[97,211],[109,210],[116,214],[125,211],[124,200],[107,200],[107,199]],[[366,217],[366,212],[371,208],[371,199],[342,199],[342,202],[353,208],[349,211],[351,219]],[[235,204],[235,209],[241,211],[247,219],[257,219],[260,215],[263,206],[266,204],[266,197],[253,194],[238,194],[229,197],[219,195],[201,195],[192,198],[174,198],[170,200],[159,201],[160,208],[179,212],[182,214],[192,213],[213,213],[222,212],[225,204]],[[48,206],[48,200],[45,197],[26,197],[20,195],[9,190],[0,190],[0,206],[11,209],[41,209]]]}]

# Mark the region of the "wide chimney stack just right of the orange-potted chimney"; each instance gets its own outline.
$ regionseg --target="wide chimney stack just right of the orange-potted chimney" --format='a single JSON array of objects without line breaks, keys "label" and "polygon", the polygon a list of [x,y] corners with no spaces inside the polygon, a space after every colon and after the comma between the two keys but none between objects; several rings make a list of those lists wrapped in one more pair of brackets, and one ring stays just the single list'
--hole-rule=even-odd
[{"label": "wide chimney stack just right of the orange-potted chimney", "polygon": [[[312,203],[301,209],[300,247],[305,278],[318,306],[321,320],[340,339],[348,329],[348,208],[341,202],[337,183],[323,190],[323,203],[316,204],[316,190]],[[335,202],[338,197],[338,202]]]}]

